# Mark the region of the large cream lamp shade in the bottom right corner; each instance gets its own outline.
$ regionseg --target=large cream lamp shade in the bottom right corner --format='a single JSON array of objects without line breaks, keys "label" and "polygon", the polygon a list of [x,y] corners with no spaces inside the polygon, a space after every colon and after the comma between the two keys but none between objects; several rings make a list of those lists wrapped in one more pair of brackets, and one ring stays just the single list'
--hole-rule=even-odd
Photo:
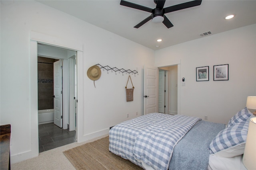
[{"label": "large cream lamp shade in the bottom right corner", "polygon": [[256,117],[250,119],[243,163],[248,170],[256,169]]}]

